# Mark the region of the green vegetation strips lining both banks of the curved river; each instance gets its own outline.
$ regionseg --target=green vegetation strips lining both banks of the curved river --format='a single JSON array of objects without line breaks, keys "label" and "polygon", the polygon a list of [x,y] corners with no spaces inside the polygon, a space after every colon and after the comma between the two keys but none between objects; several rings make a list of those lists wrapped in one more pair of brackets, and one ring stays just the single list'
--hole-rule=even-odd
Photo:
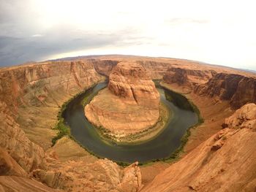
[{"label": "green vegetation strips lining both banks of the curved river", "polygon": [[[200,123],[203,123],[203,118],[200,115],[200,111],[197,109],[197,107],[195,106],[195,104],[192,103],[192,101],[190,101],[189,99],[187,99],[185,96],[183,96],[180,93],[176,93],[174,91],[170,91],[168,88],[165,88],[163,86],[161,86],[158,83],[156,83],[157,87],[159,88],[163,88],[165,90],[165,97],[168,101],[172,101],[172,102],[177,102],[178,103],[189,103],[189,104],[184,104],[184,106],[181,106],[181,104],[178,107],[184,107],[187,110],[191,110],[193,112],[197,113],[197,124],[190,127],[193,128],[195,126],[198,126]],[[89,91],[90,89],[92,90],[94,88],[95,85],[93,85],[91,88],[78,93],[77,95],[73,96],[71,99],[69,99],[68,101],[64,102],[64,104],[61,106],[61,109],[59,111],[59,114],[57,116],[58,118],[58,122],[56,123],[56,126],[54,127],[54,129],[58,130],[58,134],[56,135],[56,137],[53,137],[52,142],[53,145],[55,145],[56,141],[58,139],[61,139],[61,137],[67,136],[73,140],[75,140],[75,142],[78,142],[78,140],[76,140],[74,137],[72,137],[71,133],[70,133],[70,128],[69,126],[64,122],[64,112],[67,109],[67,105],[76,97],[78,96],[83,96],[83,99],[81,100],[81,104],[83,105],[83,107],[93,98],[94,95],[96,95],[98,93],[94,93],[94,95],[90,95],[91,92]],[[86,91],[88,91],[87,94],[84,94]],[[184,100],[185,99],[185,100]],[[177,103],[176,103],[177,104]],[[170,110],[165,106],[165,104],[161,103],[160,104],[160,118],[159,118],[159,122],[158,122],[158,127],[154,126],[152,128],[148,128],[145,132],[142,131],[140,134],[132,134],[129,135],[129,137],[127,137],[126,139],[123,139],[121,142],[118,142],[119,145],[122,144],[128,144],[128,145],[132,145],[132,142],[134,142],[137,139],[136,144],[138,144],[138,142],[144,142],[147,139],[150,138],[154,138],[157,137],[157,135],[164,130],[165,128],[165,124],[167,123],[167,120],[170,120]],[[184,134],[184,136],[181,138],[181,145],[180,147],[178,147],[178,149],[176,149],[174,151],[174,153],[172,153],[169,157],[167,158],[160,158],[160,159],[154,159],[151,161],[147,161],[147,162],[143,162],[143,163],[139,163],[140,166],[141,165],[148,165],[151,164],[152,162],[157,162],[157,161],[166,161],[166,162],[170,162],[170,161],[176,161],[179,157],[179,155],[181,154],[181,152],[184,150],[184,146],[186,145],[188,138],[190,136],[190,128],[187,129],[186,133]],[[156,131],[157,130],[157,131]],[[108,135],[110,134],[108,132],[108,130],[106,130],[105,128],[97,128],[97,131],[99,131],[99,134],[104,134],[102,137],[105,137],[105,141],[107,141],[110,145],[116,145],[116,142],[113,140],[113,137],[108,137]],[[154,135],[152,137],[152,134]],[[107,137],[106,137],[107,136]],[[94,152],[88,150],[86,147],[84,147],[83,145],[80,144],[80,142],[78,142],[78,144],[83,147],[85,150],[87,150],[89,153],[91,153],[94,156],[97,156],[97,158],[104,158],[101,157],[97,154],[95,154]],[[118,144],[117,144],[118,145]],[[116,163],[120,166],[127,166],[129,165],[129,163],[127,162],[118,162],[116,161]]]}]

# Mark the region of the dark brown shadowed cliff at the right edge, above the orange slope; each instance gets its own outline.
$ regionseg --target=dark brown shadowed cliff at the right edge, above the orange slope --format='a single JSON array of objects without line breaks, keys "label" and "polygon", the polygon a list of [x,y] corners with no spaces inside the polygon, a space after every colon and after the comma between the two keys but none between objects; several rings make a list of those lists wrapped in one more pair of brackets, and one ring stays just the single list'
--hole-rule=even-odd
[{"label": "dark brown shadowed cliff at the right edge, above the orange slope", "polygon": [[246,103],[256,103],[256,79],[239,74],[219,73],[205,84],[198,85],[195,93],[229,100],[231,107],[238,109]]}]

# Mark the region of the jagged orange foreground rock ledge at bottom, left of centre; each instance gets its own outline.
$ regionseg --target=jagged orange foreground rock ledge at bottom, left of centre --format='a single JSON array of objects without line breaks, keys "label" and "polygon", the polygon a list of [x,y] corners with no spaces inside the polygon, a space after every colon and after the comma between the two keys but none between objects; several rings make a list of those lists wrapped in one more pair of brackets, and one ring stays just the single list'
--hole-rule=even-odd
[{"label": "jagged orange foreground rock ledge at bottom, left of centre", "polygon": [[35,170],[34,177],[51,188],[65,191],[138,191],[141,174],[138,163],[121,169],[113,161],[101,159],[92,164],[68,161],[50,165],[50,171]]}]

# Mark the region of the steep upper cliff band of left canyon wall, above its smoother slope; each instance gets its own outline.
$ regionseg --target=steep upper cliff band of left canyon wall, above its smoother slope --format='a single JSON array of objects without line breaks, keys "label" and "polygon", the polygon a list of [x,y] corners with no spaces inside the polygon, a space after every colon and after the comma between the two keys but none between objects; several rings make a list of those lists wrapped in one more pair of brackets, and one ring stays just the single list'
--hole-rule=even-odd
[{"label": "steep upper cliff band of left canyon wall, above its smoother slope", "polygon": [[56,93],[74,94],[100,77],[91,64],[56,61],[0,71],[0,100],[12,112],[18,107],[61,105]]}]

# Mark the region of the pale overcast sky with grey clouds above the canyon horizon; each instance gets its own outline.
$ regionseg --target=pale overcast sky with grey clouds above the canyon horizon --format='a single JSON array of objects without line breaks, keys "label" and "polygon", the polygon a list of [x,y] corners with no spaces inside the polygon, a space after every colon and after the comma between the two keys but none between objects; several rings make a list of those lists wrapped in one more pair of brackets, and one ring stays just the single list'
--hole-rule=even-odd
[{"label": "pale overcast sky with grey clouds above the canyon horizon", "polygon": [[255,0],[0,0],[0,66],[78,55],[256,70]]}]

